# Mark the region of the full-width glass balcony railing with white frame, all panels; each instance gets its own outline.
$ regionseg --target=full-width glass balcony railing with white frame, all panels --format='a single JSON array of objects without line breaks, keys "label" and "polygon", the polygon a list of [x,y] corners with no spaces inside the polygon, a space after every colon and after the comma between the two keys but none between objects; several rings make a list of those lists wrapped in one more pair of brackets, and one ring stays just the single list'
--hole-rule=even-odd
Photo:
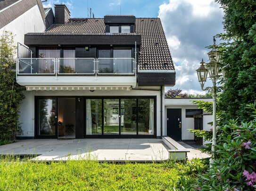
[{"label": "full-width glass balcony railing with white frame, all panels", "polygon": [[18,58],[17,75],[134,75],[134,58]]}]

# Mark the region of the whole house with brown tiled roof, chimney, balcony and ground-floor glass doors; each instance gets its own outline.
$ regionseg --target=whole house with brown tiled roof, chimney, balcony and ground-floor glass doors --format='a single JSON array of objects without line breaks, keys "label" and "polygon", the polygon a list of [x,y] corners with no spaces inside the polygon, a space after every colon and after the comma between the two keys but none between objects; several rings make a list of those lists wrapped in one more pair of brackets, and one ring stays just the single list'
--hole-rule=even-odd
[{"label": "whole house with brown tiled roof, chimney, balcony and ground-floor glass doors", "polygon": [[160,138],[164,86],[175,84],[159,18],[70,18],[55,5],[45,32],[25,34],[18,58],[21,138]]}]

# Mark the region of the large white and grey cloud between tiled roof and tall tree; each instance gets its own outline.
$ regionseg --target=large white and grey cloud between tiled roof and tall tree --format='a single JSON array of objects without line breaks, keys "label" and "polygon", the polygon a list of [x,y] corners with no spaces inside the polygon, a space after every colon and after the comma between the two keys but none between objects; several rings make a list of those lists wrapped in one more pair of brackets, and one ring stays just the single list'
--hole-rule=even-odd
[{"label": "large white and grey cloud between tiled roof and tall tree", "polygon": [[[202,57],[207,61],[205,47],[223,32],[223,10],[214,0],[169,0],[159,6],[159,15],[176,69],[176,85],[184,92],[201,91],[196,69]],[[208,81],[206,85],[211,85]],[[173,89],[172,88],[172,89]],[[170,88],[166,88],[170,89]]]}]

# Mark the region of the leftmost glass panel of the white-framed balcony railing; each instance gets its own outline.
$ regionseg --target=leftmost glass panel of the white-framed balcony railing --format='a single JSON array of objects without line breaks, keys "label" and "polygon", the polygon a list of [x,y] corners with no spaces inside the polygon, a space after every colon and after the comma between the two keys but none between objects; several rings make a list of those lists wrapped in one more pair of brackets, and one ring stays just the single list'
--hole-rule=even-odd
[{"label": "leftmost glass panel of the white-framed balcony railing", "polygon": [[56,70],[55,58],[19,58],[18,75],[51,75]]}]

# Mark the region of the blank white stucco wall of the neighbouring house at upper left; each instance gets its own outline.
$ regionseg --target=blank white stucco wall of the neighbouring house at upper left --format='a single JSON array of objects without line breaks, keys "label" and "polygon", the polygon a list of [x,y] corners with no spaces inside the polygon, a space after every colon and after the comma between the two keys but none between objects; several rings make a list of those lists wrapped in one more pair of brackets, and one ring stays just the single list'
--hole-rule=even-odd
[{"label": "blank white stucco wall of the neighbouring house at upper left", "polygon": [[[10,7],[11,8],[11,7]],[[26,11],[3,28],[0,29],[0,34],[3,31],[11,31],[14,36],[14,43],[24,44],[24,35],[28,32],[44,32],[45,23],[40,13],[38,5]]]}]

